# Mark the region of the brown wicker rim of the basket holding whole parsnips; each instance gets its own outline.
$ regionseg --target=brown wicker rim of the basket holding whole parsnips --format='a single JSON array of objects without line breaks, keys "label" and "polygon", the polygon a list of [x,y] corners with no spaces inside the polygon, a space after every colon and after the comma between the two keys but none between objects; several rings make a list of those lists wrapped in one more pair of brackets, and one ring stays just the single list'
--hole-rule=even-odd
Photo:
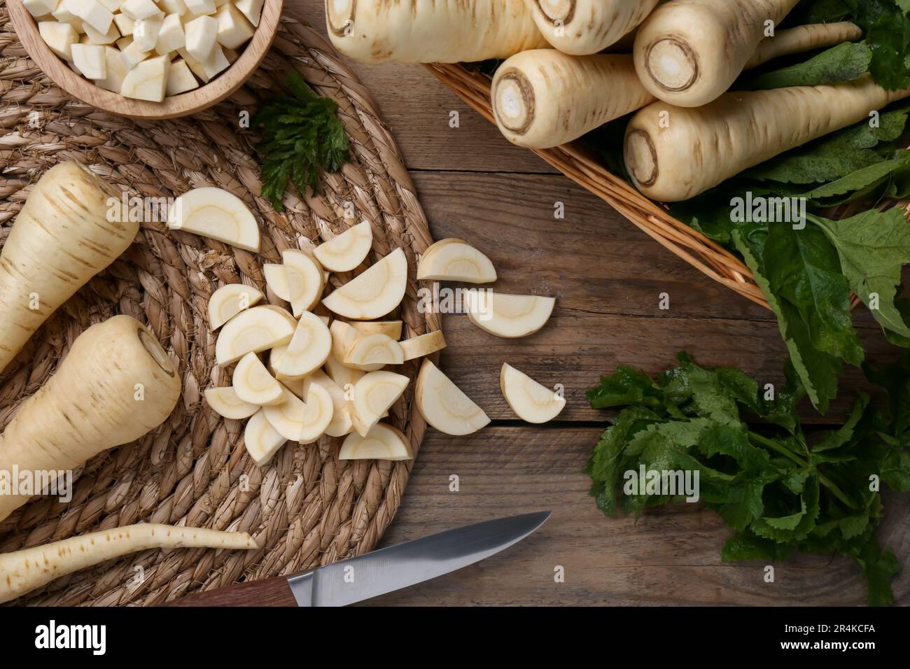
[{"label": "brown wicker rim of the basket holding whole parsnips", "polygon": [[[490,123],[494,122],[490,106],[490,76],[460,65],[433,64],[427,68],[482,117]],[[672,218],[665,208],[645,198],[603,167],[580,142],[532,150],[581,188],[591,191],[619,211],[663,248],[668,248],[744,298],[770,309],[762,289],[753,279],[752,271],[740,258],[682,221]]]}]

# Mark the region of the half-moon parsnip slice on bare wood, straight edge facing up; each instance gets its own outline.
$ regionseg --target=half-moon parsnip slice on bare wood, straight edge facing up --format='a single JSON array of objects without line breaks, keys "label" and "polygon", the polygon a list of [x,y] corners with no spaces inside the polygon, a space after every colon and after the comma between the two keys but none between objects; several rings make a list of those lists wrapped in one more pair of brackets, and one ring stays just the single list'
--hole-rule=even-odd
[{"label": "half-moon parsnip slice on bare wood, straight edge facing up", "polygon": [[468,318],[497,337],[526,337],[550,319],[555,298],[480,291],[471,294]]}]

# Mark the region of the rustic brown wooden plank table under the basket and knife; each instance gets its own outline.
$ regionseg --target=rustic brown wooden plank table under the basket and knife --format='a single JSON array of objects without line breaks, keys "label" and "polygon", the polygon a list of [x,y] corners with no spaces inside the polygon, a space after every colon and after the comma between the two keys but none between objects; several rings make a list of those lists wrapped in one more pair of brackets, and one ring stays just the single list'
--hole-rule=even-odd
[{"label": "rustic brown wooden plank table under the basket and knife", "polygon": [[[324,32],[322,3],[288,0]],[[581,473],[607,414],[584,390],[618,364],[656,373],[678,350],[703,365],[733,365],[764,382],[782,380],[786,352],[769,311],[703,276],[612,208],[513,147],[422,66],[352,69],[379,103],[404,154],[434,238],[470,241],[493,261],[498,289],[553,295],[547,326],[501,340],[460,316],[446,317],[442,369],[490,415],[469,437],[429,429],[395,522],[383,544],[498,516],[549,509],[549,522],[506,552],[430,583],[372,600],[383,605],[468,604],[861,604],[865,586],[849,560],[802,555],[775,564],[721,563],[729,532],[700,504],[632,518],[605,518]],[[451,119],[457,113],[457,127]],[[565,218],[554,218],[562,203]],[[661,293],[670,309],[659,307]],[[895,355],[863,309],[858,329],[869,355]],[[559,422],[517,421],[502,399],[508,361],[537,380],[565,386]],[[839,419],[862,384],[851,370]],[[450,491],[458,477],[458,492]],[[879,538],[905,563],[895,603],[910,603],[910,500],[885,497]],[[564,571],[564,582],[554,575]]]}]

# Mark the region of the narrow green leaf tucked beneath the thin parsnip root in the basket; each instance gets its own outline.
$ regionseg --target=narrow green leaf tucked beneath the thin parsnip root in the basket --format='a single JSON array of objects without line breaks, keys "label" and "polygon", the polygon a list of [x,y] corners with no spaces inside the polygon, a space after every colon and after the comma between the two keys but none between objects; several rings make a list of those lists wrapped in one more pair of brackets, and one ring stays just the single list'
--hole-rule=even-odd
[{"label": "narrow green leaf tucked beneath the thin parsnip root in the basket", "polygon": [[872,57],[872,50],[865,44],[844,42],[803,63],[754,76],[746,87],[759,90],[852,81],[868,71]]}]

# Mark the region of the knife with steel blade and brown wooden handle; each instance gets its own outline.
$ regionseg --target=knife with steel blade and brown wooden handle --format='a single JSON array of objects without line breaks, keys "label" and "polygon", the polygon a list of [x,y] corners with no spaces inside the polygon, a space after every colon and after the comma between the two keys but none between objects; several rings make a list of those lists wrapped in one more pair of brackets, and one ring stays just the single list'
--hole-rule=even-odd
[{"label": "knife with steel blade and brown wooden handle", "polygon": [[475,522],[327,564],[312,572],[237,583],[168,606],[347,606],[430,581],[521,542],[551,512]]}]

